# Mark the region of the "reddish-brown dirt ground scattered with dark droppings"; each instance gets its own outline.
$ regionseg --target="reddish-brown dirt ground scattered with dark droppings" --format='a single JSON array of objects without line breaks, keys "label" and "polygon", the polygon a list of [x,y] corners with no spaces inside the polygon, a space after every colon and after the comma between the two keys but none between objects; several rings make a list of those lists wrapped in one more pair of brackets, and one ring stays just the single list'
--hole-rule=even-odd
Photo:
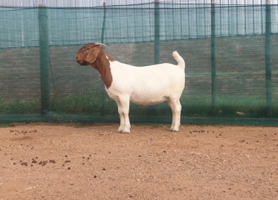
[{"label": "reddish-brown dirt ground scattered with dark droppings", "polygon": [[278,199],[278,128],[0,128],[0,199]]}]

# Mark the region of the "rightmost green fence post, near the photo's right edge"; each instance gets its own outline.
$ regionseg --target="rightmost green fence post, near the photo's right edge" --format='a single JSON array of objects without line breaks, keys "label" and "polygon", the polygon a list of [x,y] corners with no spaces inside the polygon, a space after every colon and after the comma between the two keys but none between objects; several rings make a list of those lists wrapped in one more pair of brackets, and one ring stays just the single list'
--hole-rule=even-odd
[{"label": "rightmost green fence post, near the photo's right edge", "polygon": [[266,115],[272,117],[272,85],[271,85],[271,5],[265,0],[265,89]]}]

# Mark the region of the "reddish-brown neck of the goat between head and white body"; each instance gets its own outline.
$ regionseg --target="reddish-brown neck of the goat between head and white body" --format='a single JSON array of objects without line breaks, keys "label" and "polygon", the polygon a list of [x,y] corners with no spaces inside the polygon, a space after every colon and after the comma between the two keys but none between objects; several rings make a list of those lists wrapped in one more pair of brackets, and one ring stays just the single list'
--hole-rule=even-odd
[{"label": "reddish-brown neck of the goat between head and white body", "polygon": [[[107,57],[107,58],[106,58]],[[93,63],[92,67],[97,69],[99,71],[99,74],[101,75],[102,81],[104,81],[104,85],[108,89],[113,81],[113,77],[111,74],[111,68],[110,68],[110,62],[113,61],[113,58],[110,56],[106,56],[106,53],[104,51],[101,51],[99,53],[99,56],[97,56],[97,60],[95,60],[95,63]]]}]

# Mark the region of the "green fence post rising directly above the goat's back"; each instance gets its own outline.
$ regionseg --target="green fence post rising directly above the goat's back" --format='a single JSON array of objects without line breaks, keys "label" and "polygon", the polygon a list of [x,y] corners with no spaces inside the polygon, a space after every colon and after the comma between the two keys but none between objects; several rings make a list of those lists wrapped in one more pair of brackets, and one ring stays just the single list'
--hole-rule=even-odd
[{"label": "green fence post rising directly above the goat's back", "polygon": [[159,46],[161,35],[161,24],[159,14],[159,0],[154,1],[154,64],[159,63]]}]

